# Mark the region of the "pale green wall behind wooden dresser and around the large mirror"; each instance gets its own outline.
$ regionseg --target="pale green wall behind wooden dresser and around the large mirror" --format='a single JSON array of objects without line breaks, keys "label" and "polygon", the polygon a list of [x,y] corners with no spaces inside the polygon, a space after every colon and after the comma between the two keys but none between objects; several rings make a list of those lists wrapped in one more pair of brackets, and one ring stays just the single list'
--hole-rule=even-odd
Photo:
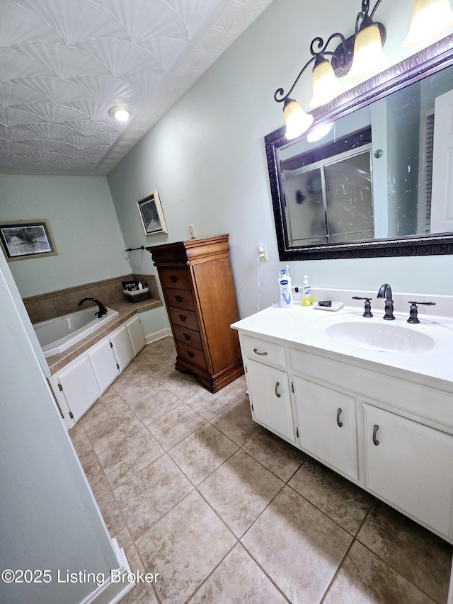
[{"label": "pale green wall behind wooden dresser and around the large mirror", "polygon": [[[108,175],[126,246],[229,233],[241,317],[256,312],[258,243],[260,307],[278,298],[277,243],[263,137],[283,125],[273,94],[289,89],[316,35],[352,33],[357,0],[274,0],[164,118]],[[376,18],[387,28],[386,53],[395,63],[411,54],[401,47],[413,0],[384,2]],[[294,96],[308,108],[309,77]],[[352,82],[348,87],[352,86]],[[168,237],[145,237],[135,201],[158,189]],[[134,270],[152,270],[146,253],[130,256]],[[137,255],[138,254],[138,255]],[[452,256],[360,258],[290,263],[294,284],[310,275],[314,287],[377,292],[384,282],[396,292],[453,295]]]}]

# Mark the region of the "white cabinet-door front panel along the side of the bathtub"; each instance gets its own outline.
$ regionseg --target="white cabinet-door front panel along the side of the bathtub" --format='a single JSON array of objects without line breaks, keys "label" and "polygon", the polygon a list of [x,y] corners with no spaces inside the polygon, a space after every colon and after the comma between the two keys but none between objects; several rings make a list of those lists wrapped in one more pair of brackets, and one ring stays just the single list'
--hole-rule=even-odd
[{"label": "white cabinet-door front panel along the side of the bathtub", "polygon": [[129,365],[142,344],[144,335],[137,315],[50,376],[50,386],[68,428]]}]

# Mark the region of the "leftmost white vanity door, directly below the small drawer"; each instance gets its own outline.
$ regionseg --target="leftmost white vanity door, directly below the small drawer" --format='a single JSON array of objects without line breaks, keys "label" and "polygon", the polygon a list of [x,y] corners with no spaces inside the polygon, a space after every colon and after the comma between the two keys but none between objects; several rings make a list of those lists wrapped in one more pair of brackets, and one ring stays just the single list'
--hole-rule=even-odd
[{"label": "leftmost white vanity door, directly below the small drawer", "polygon": [[254,421],[294,444],[287,372],[248,359],[246,375]]}]

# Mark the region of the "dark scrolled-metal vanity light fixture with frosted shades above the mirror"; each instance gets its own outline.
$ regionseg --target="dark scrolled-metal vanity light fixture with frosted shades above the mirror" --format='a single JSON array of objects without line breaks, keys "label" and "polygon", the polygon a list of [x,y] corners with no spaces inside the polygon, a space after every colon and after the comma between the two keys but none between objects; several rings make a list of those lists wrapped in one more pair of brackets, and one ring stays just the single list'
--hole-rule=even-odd
[{"label": "dark scrolled-metal vanity light fixture with frosted shades above the mirror", "polygon": [[[311,40],[309,59],[287,93],[279,88],[274,93],[277,103],[283,102],[283,116],[287,125],[287,139],[297,138],[309,129],[314,120],[311,113],[290,98],[299,79],[313,64],[313,96],[310,107],[316,108],[333,101],[340,92],[337,78],[365,79],[384,69],[389,57],[384,53],[386,29],[382,23],[374,21],[374,13],[382,0],[377,0],[370,11],[370,0],[362,0],[362,9],[355,18],[355,33],[345,38],[341,33],[333,33],[326,43],[323,38]],[[415,0],[411,30],[404,45],[427,43],[453,26],[453,11],[449,0]],[[328,50],[331,41],[337,38],[340,44]],[[329,58],[328,58],[329,57]]]}]

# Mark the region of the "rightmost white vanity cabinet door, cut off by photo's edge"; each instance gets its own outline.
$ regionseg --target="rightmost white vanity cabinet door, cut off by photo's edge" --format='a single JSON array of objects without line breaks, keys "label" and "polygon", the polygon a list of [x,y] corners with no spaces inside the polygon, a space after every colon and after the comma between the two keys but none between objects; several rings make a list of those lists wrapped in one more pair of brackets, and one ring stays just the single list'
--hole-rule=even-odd
[{"label": "rightmost white vanity cabinet door, cut off by photo's edge", "polygon": [[367,488],[451,534],[453,436],[363,404]]}]

